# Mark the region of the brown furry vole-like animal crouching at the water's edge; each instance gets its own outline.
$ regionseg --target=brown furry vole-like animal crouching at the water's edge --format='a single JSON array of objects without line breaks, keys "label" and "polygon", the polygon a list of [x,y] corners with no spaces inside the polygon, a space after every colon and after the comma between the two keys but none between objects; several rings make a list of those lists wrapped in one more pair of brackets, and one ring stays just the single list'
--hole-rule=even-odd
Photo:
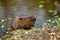
[{"label": "brown furry vole-like animal crouching at the water's edge", "polygon": [[31,28],[34,26],[36,18],[33,16],[17,16],[12,22],[12,29],[25,29]]}]

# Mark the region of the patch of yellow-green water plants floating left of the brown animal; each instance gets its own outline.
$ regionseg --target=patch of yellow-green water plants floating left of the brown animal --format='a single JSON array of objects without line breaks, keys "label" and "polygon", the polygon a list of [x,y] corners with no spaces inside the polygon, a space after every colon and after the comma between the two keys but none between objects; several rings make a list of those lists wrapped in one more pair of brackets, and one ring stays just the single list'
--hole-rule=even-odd
[{"label": "patch of yellow-green water plants floating left of the brown animal", "polygon": [[11,30],[11,28],[9,27],[10,23],[9,23],[7,29],[6,29],[6,26],[7,26],[7,25],[5,24],[7,21],[11,21],[11,20],[12,20],[12,17],[2,18],[2,19],[0,20],[0,28],[2,29],[2,32],[5,32],[5,31],[7,30],[7,32],[6,32],[6,34],[7,34],[8,31]]}]

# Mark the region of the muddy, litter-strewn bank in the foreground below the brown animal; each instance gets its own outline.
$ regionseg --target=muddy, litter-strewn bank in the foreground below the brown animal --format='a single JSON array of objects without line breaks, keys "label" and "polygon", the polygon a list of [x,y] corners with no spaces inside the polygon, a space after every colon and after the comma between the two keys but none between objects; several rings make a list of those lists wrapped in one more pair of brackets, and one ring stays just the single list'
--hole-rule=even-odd
[{"label": "muddy, litter-strewn bank in the foreground below the brown animal", "polygon": [[60,29],[58,27],[18,29],[2,36],[1,40],[60,40]]}]

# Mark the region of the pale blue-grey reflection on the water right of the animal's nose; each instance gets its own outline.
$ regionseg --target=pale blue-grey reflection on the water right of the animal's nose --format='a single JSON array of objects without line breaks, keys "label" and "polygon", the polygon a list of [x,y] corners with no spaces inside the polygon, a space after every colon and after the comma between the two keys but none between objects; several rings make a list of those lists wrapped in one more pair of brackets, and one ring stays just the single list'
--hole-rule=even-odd
[{"label": "pale blue-grey reflection on the water right of the animal's nose", "polygon": [[41,27],[42,24],[44,22],[46,22],[45,18],[44,18],[44,16],[45,16],[45,10],[44,9],[39,9],[37,13],[38,13],[38,15],[36,17],[36,26],[37,27]]}]

